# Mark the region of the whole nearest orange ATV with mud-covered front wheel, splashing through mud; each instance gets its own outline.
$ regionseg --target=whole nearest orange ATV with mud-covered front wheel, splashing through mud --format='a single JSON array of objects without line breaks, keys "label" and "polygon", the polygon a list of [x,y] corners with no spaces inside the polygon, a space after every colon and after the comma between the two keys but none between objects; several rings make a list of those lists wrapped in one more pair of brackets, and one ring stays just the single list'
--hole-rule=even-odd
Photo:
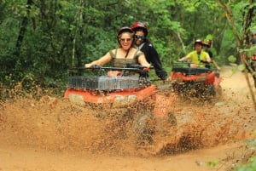
[{"label": "whole nearest orange ATV with mud-covered front wheel, splashing through mud", "polygon": [[111,117],[111,121],[116,121],[113,124],[124,134],[125,125],[132,124],[137,143],[153,143],[156,118],[168,116],[168,109],[163,111],[156,104],[156,100],[160,104],[164,100],[158,96],[156,86],[149,80],[148,71],[144,71],[143,66],[93,66],[73,71],[80,71],[80,74],[73,72],[68,78],[65,98],[90,106],[96,117]]}]

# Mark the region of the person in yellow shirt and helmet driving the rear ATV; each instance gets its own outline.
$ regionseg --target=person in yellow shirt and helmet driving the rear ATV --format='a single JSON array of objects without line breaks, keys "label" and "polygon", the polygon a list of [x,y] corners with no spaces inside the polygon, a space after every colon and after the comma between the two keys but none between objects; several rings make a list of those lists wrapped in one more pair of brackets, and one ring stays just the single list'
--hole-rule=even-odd
[{"label": "person in yellow shirt and helmet driving the rear ATV", "polygon": [[[208,64],[211,62],[211,58],[207,52],[203,51],[203,42],[201,39],[195,40],[194,48],[195,50],[179,59],[178,61],[190,60],[193,64],[201,67],[208,67]],[[206,65],[207,63],[207,65]]]}]

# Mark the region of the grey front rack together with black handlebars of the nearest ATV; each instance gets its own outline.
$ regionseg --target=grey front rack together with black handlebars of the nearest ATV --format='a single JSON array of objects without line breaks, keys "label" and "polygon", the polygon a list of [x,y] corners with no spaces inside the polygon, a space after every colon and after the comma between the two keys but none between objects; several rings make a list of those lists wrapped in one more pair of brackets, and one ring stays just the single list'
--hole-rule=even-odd
[{"label": "grey front rack together with black handlebars of the nearest ATV", "polygon": [[[143,66],[132,65],[127,67],[102,67],[93,66],[90,68],[73,68],[72,70],[95,71],[96,76],[78,76],[68,77],[68,88],[78,88],[84,90],[113,91],[129,88],[146,88],[151,85],[148,79],[148,72],[143,70]],[[109,77],[108,71],[122,71],[122,74],[115,77]],[[125,75],[125,71],[132,71],[138,74]]]}]

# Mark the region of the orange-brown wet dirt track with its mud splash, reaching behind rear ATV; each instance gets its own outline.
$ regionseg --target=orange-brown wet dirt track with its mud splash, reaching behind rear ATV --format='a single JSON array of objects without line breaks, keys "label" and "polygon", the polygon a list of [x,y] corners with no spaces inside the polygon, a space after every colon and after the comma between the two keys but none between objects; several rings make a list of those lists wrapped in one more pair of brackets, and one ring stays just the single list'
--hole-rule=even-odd
[{"label": "orange-brown wet dirt track with its mud splash, reaching behind rear ATV", "polygon": [[[68,100],[1,103],[0,170],[226,170],[241,157],[241,140],[255,139],[256,127],[243,73],[231,70],[221,73],[221,99],[169,104],[177,124],[167,132],[158,125],[154,144],[144,149],[132,131],[122,134],[112,119]],[[217,168],[207,166],[213,160]]]}]

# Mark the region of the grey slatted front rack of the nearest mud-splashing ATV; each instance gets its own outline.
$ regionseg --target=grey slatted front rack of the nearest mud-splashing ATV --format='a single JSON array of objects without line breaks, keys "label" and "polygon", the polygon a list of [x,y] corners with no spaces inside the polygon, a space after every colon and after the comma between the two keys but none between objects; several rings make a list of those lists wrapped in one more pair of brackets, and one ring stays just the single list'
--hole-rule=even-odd
[{"label": "grey slatted front rack of the nearest mud-splashing ATV", "polygon": [[83,88],[87,90],[119,90],[126,88],[145,87],[139,77],[84,77],[72,76],[68,78],[69,88]]}]

